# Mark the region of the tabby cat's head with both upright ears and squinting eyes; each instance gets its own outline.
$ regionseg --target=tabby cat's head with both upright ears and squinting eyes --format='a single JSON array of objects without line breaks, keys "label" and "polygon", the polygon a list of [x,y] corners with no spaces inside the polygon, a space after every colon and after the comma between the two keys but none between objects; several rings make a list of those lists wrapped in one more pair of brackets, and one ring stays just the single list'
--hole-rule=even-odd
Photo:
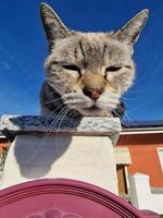
[{"label": "tabby cat's head with both upright ears and squinting eyes", "polygon": [[133,46],[147,22],[148,10],[122,29],[109,33],[71,31],[46,3],[40,5],[40,15],[49,43],[49,85],[79,113],[109,116],[134,82]]}]

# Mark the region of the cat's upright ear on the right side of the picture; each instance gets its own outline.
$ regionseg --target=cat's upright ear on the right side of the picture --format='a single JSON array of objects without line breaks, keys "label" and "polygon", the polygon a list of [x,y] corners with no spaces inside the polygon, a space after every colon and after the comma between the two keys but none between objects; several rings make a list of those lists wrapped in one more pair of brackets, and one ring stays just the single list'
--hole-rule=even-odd
[{"label": "cat's upright ear on the right side of the picture", "polygon": [[122,29],[117,31],[114,34],[114,37],[120,41],[133,46],[137,41],[148,20],[148,14],[149,14],[148,9],[140,11],[125,26],[123,26]]}]

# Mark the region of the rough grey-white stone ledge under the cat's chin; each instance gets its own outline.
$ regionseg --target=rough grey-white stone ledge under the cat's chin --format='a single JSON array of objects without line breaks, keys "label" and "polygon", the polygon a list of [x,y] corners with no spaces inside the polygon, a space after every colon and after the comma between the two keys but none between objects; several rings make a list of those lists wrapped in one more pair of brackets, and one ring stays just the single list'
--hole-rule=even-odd
[{"label": "rough grey-white stone ledge under the cat's chin", "polygon": [[109,135],[116,137],[121,132],[118,118],[85,117],[72,119],[45,116],[2,116],[0,131],[12,135],[27,133],[73,133],[75,135]]}]

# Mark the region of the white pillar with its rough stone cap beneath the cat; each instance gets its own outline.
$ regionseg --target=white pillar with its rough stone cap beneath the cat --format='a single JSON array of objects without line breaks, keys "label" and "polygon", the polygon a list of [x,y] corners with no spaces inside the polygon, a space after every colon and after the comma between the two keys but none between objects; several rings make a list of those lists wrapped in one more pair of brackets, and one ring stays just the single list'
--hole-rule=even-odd
[{"label": "white pillar with its rough stone cap beneath the cat", "polygon": [[14,141],[1,189],[42,178],[88,182],[117,194],[113,145],[121,131],[116,118],[64,119],[3,116],[1,130]]}]

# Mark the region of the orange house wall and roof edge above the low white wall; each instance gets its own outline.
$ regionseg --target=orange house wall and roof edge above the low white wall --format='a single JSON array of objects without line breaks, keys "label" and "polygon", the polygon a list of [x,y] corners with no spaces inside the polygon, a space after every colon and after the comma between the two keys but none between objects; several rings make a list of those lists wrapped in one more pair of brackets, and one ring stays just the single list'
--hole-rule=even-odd
[{"label": "orange house wall and roof edge above the low white wall", "polygon": [[[117,167],[123,174],[136,172],[149,174],[152,189],[163,189],[163,121],[134,122],[124,124],[117,141],[117,150],[126,162]],[[127,171],[126,171],[127,167]],[[120,170],[121,169],[121,170]],[[122,177],[123,178],[123,177]],[[127,182],[123,182],[121,192],[127,192]]]}]

